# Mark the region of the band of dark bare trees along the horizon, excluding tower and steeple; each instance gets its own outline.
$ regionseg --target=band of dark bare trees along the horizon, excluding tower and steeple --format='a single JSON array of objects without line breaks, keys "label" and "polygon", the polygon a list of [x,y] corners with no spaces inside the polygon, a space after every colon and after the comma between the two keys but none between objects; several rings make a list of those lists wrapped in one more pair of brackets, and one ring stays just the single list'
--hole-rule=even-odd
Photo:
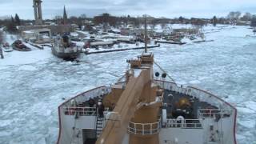
[{"label": "band of dark bare trees along the horizon, excluding tower and steeple", "polygon": [[[95,16],[94,18],[87,18],[86,14],[81,14],[80,16],[71,16],[68,18],[68,23],[77,24],[81,29],[82,26],[85,25],[85,20],[92,21],[94,25],[103,24],[103,26],[123,26],[123,25],[133,25],[133,26],[142,26],[144,23],[143,17],[131,17],[130,15],[125,16],[113,16],[108,13],[100,14]],[[231,11],[227,14],[226,17],[217,18],[214,16],[213,18],[154,18],[147,17],[147,22],[149,26],[154,29],[154,27],[158,24],[162,26],[162,28],[166,27],[166,24],[191,24],[194,26],[204,26],[206,24],[213,24],[216,26],[217,24],[236,24],[238,21],[251,22],[251,26],[256,26],[256,15],[245,13],[242,15],[239,11]],[[18,14],[15,16],[11,16],[10,18],[6,18],[5,20],[0,20],[0,26],[6,26],[6,30],[10,33],[17,32],[17,26],[26,25],[27,23],[32,23],[34,21],[31,20],[22,20],[19,18]],[[62,16],[55,16],[53,19],[47,19],[45,22],[54,22],[56,24],[63,24]]]}]

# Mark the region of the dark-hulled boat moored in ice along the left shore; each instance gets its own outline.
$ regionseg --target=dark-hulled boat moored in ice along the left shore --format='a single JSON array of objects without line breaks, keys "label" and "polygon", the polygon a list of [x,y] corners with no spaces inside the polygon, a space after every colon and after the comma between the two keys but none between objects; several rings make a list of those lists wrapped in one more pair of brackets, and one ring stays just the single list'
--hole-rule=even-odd
[{"label": "dark-hulled boat moored in ice along the left shore", "polygon": [[63,58],[64,60],[74,60],[78,58],[80,54],[79,47],[70,41],[67,35],[64,35],[54,39],[54,44],[51,48],[52,53],[58,58]]}]

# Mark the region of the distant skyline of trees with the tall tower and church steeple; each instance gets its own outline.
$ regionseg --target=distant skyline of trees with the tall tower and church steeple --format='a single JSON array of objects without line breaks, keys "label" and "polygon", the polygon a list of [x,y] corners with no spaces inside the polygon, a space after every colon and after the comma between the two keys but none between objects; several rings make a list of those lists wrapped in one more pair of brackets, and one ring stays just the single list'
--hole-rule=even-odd
[{"label": "distant skyline of trees with the tall tower and church steeple", "polygon": [[[26,20],[20,18],[18,14],[14,16],[5,17],[0,19],[0,26],[6,27],[5,30],[10,33],[21,32],[24,26],[60,26],[65,25],[66,31],[74,30],[92,30],[92,26],[114,26],[120,28],[122,26],[133,26],[139,27],[143,25],[143,17],[132,17],[129,14],[126,16],[114,16],[108,13],[100,14],[94,18],[86,17],[86,14],[81,14],[80,16],[70,16],[66,12],[66,7],[63,6],[63,15],[56,15],[52,19],[43,19],[42,15],[42,1],[34,0],[34,20]],[[154,18],[147,15],[147,22],[151,29],[154,29],[156,25],[161,25],[165,27],[166,24],[191,24],[193,26],[205,26],[208,24],[226,24],[226,25],[236,25],[236,26],[256,26],[256,14],[245,13],[242,14],[240,11],[232,11],[226,17],[218,18],[213,16],[212,18],[185,18],[182,16],[177,16],[177,18]],[[64,26],[64,27],[65,27]]]}]

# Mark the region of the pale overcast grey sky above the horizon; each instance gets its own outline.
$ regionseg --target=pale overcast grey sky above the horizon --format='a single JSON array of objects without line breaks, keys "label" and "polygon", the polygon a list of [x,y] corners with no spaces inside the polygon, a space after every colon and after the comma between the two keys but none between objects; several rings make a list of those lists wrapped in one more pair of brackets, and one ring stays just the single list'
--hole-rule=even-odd
[{"label": "pale overcast grey sky above the horizon", "polygon": [[[86,14],[87,17],[102,14],[154,17],[211,18],[226,16],[240,10],[256,14],[256,0],[42,0],[43,18],[62,15],[66,6],[68,16]],[[0,0],[0,17],[17,13],[20,18],[34,18],[33,0]]]}]

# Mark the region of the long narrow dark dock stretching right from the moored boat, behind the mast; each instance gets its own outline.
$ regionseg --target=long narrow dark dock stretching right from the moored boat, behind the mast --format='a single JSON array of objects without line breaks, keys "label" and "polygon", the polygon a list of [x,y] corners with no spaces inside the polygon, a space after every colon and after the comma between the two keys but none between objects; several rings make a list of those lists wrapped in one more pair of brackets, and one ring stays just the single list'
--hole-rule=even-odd
[{"label": "long narrow dark dock stretching right from the moored boat, behind the mast", "polygon": [[[156,47],[160,47],[160,44],[155,45],[155,46],[147,46],[148,49],[152,49],[152,48],[156,48]],[[131,47],[131,48],[126,48],[126,49],[98,50],[98,51],[92,51],[92,52],[86,51],[85,54],[86,55],[88,55],[88,54],[101,54],[101,53],[110,53],[110,52],[115,52],[115,51],[141,50],[141,49],[145,49],[145,46]]]}]

